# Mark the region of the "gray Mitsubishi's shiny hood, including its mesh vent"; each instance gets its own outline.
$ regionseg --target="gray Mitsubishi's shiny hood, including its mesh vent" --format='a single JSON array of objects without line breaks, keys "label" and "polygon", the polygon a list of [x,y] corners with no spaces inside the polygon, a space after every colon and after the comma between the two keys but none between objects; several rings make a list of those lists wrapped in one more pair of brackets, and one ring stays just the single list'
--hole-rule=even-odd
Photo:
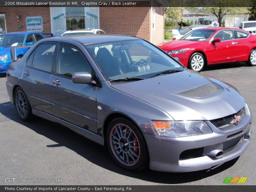
[{"label": "gray Mitsubishi's shiny hood, including its mesh vent", "polygon": [[112,87],[164,110],[174,120],[218,119],[237,113],[245,105],[232,85],[191,70]]}]

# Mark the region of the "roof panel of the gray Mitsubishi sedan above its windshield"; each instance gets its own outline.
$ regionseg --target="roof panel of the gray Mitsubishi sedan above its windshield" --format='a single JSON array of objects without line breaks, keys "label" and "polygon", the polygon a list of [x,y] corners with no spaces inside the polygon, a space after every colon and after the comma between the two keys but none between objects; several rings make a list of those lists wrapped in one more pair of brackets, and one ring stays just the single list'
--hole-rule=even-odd
[{"label": "roof panel of the gray Mitsubishi sedan above its windshield", "polygon": [[104,42],[111,42],[111,41],[124,41],[124,40],[136,40],[136,39],[140,39],[140,38],[133,37],[133,36],[125,36],[125,35],[112,35],[112,34],[87,34],[87,35],[51,37],[51,38],[42,39],[40,40],[40,42],[74,40],[82,44],[95,44],[95,43],[104,43]]}]

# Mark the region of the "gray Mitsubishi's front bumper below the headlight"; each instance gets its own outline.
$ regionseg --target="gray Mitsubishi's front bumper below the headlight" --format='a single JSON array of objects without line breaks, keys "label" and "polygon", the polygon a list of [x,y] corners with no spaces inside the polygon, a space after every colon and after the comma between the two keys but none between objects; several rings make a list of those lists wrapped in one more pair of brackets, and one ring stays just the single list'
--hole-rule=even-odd
[{"label": "gray Mitsubishi's front bumper below the headlight", "polygon": [[[251,114],[247,105],[245,116],[237,125],[231,126],[227,131],[221,131],[209,121],[212,133],[189,137],[170,138],[144,135],[150,156],[150,169],[163,172],[192,172],[210,169],[242,155],[250,143]],[[239,134],[237,134],[239,132]],[[234,135],[230,137],[231,135]],[[241,139],[240,139],[241,138]],[[239,140],[239,144],[224,152],[220,158],[211,158],[207,153],[214,150],[223,150],[223,143],[232,144]],[[193,153],[202,149],[201,156],[184,156],[187,150]],[[182,153],[183,152],[183,153]]]}]

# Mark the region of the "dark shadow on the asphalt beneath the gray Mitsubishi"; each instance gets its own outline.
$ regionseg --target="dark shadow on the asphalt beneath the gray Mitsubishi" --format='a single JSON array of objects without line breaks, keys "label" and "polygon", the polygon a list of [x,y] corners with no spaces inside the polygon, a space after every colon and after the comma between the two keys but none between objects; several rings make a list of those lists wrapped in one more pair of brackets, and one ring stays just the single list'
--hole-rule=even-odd
[{"label": "dark shadow on the asphalt beneath the gray Mitsubishi", "polygon": [[47,145],[42,147],[66,147],[73,150],[78,155],[84,157],[88,161],[96,164],[104,169],[107,169],[118,174],[122,174],[128,177],[137,178],[149,182],[164,183],[164,184],[182,184],[203,178],[210,177],[214,174],[222,172],[236,163],[238,158],[224,163],[215,168],[197,172],[188,173],[168,173],[168,172],[157,172],[152,171],[149,168],[143,169],[138,172],[129,172],[117,164],[111,159],[108,154],[107,148],[94,143],[91,140],[84,138],[83,136],[69,130],[68,128],[42,119],[35,117],[34,120],[25,122],[22,121],[16,111],[14,105],[11,102],[0,104],[0,122],[1,121],[15,121],[22,124],[36,133],[49,138],[50,140],[58,143],[53,145]]}]

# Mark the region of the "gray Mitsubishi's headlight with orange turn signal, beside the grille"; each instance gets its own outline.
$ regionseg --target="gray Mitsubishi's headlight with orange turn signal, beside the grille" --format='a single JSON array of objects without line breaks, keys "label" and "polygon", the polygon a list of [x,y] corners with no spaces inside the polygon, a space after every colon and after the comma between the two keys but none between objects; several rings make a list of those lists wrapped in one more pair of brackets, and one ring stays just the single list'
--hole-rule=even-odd
[{"label": "gray Mitsubishi's headlight with orange turn signal, beside the grille", "polygon": [[186,137],[212,133],[204,121],[153,121],[153,127],[158,136]]}]

